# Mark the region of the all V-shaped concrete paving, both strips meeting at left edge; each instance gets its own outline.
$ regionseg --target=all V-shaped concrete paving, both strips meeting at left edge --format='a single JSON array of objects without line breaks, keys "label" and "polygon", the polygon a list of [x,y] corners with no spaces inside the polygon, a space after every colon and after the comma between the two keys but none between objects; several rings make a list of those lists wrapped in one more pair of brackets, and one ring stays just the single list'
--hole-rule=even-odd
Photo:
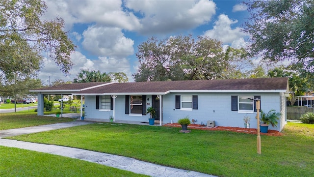
[{"label": "all V-shaped concrete paving, both strips meeting at left edge", "polygon": [[[16,136],[28,133],[35,133],[40,131],[48,131],[60,128],[66,128],[77,125],[84,125],[93,123],[90,121],[73,121],[65,123],[56,123],[51,125],[34,126],[27,128],[2,130],[0,137]],[[139,161],[129,157],[106,154],[79,148],[68,148],[55,145],[45,145],[38,143],[29,143],[16,140],[0,139],[0,146],[22,148],[27,150],[34,150],[55,155],[61,155],[70,158],[76,158],[89,162],[94,162],[109,167],[114,167],[122,170],[131,171],[137,174],[148,175],[152,177],[215,177],[199,172],[186,171],[176,168],[160,166],[148,162]]]}]

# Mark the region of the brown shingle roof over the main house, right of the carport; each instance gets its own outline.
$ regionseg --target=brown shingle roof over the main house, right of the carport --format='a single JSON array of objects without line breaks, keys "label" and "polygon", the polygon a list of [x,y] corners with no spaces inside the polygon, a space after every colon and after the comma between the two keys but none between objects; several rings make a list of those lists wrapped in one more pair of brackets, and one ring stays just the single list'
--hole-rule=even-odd
[{"label": "brown shingle roof over the main house, right of the carport", "polygon": [[288,78],[157,81],[114,83],[87,89],[79,94],[102,93],[164,93],[170,90],[287,90]]}]

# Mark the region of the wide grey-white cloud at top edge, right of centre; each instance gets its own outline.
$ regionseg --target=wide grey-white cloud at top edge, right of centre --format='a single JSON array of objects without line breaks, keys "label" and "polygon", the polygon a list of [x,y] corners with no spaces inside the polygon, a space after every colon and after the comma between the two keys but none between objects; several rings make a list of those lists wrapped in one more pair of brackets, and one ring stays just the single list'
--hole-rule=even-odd
[{"label": "wide grey-white cloud at top edge, right of centre", "polygon": [[126,7],[140,13],[140,33],[166,33],[206,24],[215,14],[209,0],[127,0]]}]

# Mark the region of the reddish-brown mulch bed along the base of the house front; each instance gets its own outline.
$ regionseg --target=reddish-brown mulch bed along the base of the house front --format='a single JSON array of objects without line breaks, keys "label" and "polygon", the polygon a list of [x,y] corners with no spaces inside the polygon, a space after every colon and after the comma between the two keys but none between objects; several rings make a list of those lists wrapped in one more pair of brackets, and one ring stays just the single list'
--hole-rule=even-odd
[{"label": "reddish-brown mulch bed along the base of the house front", "polygon": [[[181,127],[179,123],[172,123],[172,124],[167,123],[163,126]],[[189,124],[187,128],[200,129],[200,130],[233,131],[233,132],[240,132],[240,133],[257,134],[257,129],[255,128],[224,127],[224,126],[206,127],[200,124]],[[268,130],[268,133],[261,133],[261,135],[282,136],[283,134],[276,130]]]}]

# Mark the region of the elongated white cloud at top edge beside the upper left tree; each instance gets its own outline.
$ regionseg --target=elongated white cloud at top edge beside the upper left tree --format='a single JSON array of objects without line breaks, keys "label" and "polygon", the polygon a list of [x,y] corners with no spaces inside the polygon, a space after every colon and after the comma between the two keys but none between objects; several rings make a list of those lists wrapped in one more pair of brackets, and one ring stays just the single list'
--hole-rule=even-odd
[{"label": "elongated white cloud at top edge beside the upper left tree", "polygon": [[75,23],[91,24],[106,27],[119,27],[127,30],[140,29],[137,17],[124,11],[122,0],[46,0],[47,19],[59,16],[64,19],[66,29]]}]

